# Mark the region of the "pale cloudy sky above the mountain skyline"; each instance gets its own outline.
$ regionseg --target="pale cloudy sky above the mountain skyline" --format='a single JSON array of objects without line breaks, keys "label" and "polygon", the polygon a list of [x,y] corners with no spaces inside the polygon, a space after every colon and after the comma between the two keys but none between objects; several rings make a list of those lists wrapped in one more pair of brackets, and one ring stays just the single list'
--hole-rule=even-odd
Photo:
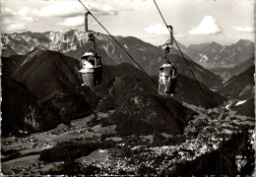
[{"label": "pale cloudy sky above the mountain skyline", "polygon": [[[113,35],[136,36],[154,45],[169,39],[154,0],[81,0]],[[156,0],[176,40],[189,44],[254,41],[253,0]],[[1,0],[2,32],[84,30],[78,0]],[[89,17],[89,29],[106,33]]]}]

